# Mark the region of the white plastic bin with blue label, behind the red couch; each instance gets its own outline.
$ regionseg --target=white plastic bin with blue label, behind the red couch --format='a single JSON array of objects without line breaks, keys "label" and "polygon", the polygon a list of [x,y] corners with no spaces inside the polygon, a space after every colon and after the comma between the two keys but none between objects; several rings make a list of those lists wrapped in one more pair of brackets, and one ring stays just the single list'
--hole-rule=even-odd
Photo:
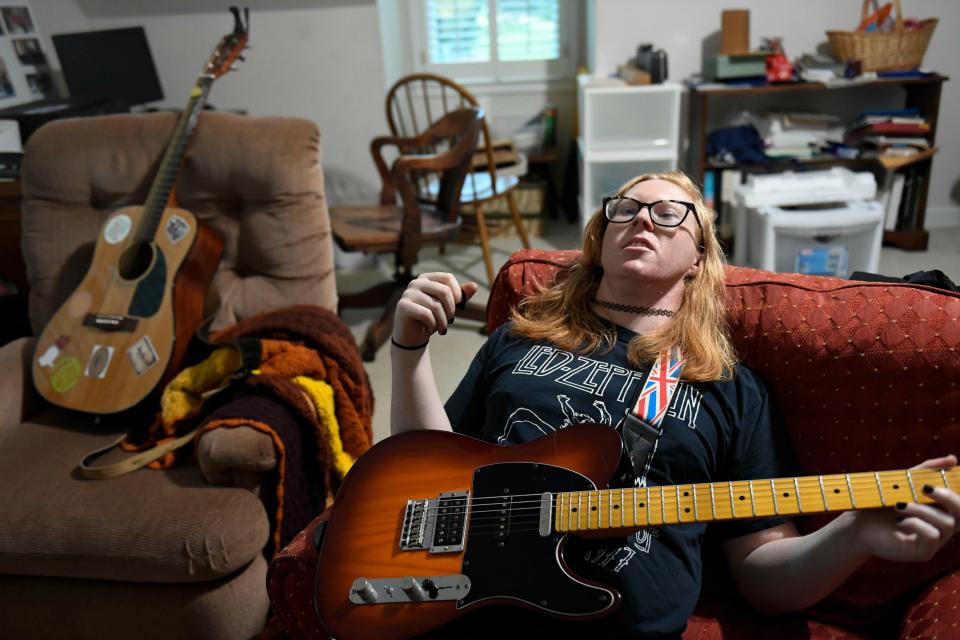
[{"label": "white plastic bin with blue label, behind the red couch", "polygon": [[883,205],[848,202],[818,210],[749,210],[750,263],[759,269],[846,278],[875,273],[883,239]]}]

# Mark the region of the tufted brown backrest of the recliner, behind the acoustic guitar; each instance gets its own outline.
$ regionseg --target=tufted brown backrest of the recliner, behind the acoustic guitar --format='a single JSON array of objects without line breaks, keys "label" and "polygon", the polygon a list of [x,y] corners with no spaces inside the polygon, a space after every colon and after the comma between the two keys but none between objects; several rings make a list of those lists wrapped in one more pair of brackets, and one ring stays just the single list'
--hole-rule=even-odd
[{"label": "tufted brown backrest of the recliner, behind the acoustic guitar", "polygon": [[[23,162],[23,253],[35,332],[76,288],[100,225],[146,199],[172,113],[41,127]],[[214,327],[290,304],[337,306],[320,134],[297,118],[205,112],[176,183],[179,206],[219,232]],[[58,233],[50,233],[57,229]]]}]

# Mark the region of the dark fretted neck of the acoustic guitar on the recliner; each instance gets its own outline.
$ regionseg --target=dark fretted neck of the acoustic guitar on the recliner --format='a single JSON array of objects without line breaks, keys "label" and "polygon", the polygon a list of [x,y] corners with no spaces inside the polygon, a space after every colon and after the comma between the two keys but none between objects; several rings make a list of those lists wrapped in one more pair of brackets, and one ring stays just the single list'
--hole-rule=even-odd
[{"label": "dark fretted neck of the acoustic guitar on the recliner", "polygon": [[136,232],[138,240],[149,242],[157,233],[163,211],[167,208],[170,194],[173,192],[173,183],[177,179],[183,156],[186,153],[193,131],[197,127],[197,121],[200,119],[203,105],[207,101],[212,82],[212,77],[201,74],[197,77],[197,83],[190,91],[190,100],[177,120],[177,126],[174,128],[173,136],[171,136],[167,150],[163,154],[157,177],[153,181],[149,195],[147,195],[147,201],[144,204],[144,217]]}]

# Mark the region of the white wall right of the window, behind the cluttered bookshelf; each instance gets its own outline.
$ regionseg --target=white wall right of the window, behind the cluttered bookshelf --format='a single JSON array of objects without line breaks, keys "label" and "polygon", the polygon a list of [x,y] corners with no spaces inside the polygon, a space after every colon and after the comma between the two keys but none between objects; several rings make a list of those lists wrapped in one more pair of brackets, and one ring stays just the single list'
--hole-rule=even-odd
[{"label": "white wall right of the window, behind the cluttered bookshelf", "polygon": [[[859,0],[589,0],[592,20],[587,40],[595,43],[591,72],[609,75],[636,52],[642,42],[666,50],[670,78],[681,80],[702,69],[704,41],[716,39],[724,8],[750,10],[750,44],[764,36],[780,36],[791,59],[827,42],[828,29],[856,26]],[[937,17],[940,22],[924,58],[930,70],[954,78],[944,83],[940,100],[937,145],[930,181],[929,224],[960,224],[960,2],[904,2],[910,17]],[[716,46],[719,46],[717,40]]]}]

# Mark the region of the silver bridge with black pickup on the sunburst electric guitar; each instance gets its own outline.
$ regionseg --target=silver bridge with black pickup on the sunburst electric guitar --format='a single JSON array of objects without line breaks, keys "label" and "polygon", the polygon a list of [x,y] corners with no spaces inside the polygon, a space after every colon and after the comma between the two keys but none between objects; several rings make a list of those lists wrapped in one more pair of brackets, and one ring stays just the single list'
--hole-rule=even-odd
[{"label": "silver bridge with black pickup on the sunburst electric guitar", "polygon": [[400,549],[430,553],[463,551],[469,491],[441,493],[436,500],[408,500],[403,512]]}]

